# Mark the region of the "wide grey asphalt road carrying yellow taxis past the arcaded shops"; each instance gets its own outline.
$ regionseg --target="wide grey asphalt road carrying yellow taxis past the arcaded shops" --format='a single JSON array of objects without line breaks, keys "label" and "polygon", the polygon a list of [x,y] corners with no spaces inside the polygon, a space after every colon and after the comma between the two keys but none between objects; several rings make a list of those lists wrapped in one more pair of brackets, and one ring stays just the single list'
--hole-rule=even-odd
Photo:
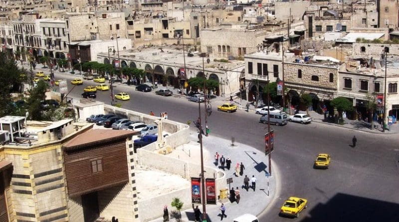
[{"label": "wide grey asphalt road carrying yellow taxis past the arcaded shops", "polygon": [[[56,72],[55,77],[66,78],[70,83],[76,75]],[[84,80],[69,97],[79,98],[88,85],[96,84]],[[119,102],[122,108],[143,113],[168,112],[168,119],[184,123],[198,118],[198,104],[183,98],[138,92],[133,86],[120,84],[116,84],[114,91],[126,91],[131,96],[130,101]],[[97,100],[110,104],[109,91],[97,92]],[[239,143],[264,151],[267,125],[258,122],[260,115],[218,112],[219,104],[211,101],[210,133],[226,139],[234,137]],[[203,113],[203,104],[200,108]],[[399,221],[398,135],[369,134],[321,123],[289,123],[272,128],[275,130],[272,159],[278,168],[273,174],[278,174],[281,186],[275,200],[260,216],[260,222]],[[356,148],[349,146],[354,135],[358,138]],[[329,169],[313,169],[318,153],[332,156]],[[278,215],[284,200],[290,196],[308,200],[308,208],[298,219]]]}]

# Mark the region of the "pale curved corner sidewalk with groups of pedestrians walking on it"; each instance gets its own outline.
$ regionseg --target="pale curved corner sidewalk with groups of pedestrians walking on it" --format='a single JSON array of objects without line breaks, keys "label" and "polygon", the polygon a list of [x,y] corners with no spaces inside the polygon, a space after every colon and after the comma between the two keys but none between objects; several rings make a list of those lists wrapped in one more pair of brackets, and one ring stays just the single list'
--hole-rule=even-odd
[{"label": "pale curved corner sidewalk with groups of pedestrians walking on it", "polygon": [[[192,133],[190,139],[198,146],[197,139],[198,134]],[[190,145],[189,145],[190,146]],[[199,159],[198,152],[191,152],[191,155],[187,154],[187,147],[181,146],[176,148],[176,152],[174,151],[172,155],[179,156],[180,159]],[[258,151],[253,147],[249,147],[240,143],[235,143],[234,146],[231,146],[231,141],[221,139],[215,136],[203,137],[203,163],[206,166],[211,166],[220,169],[220,164],[215,166],[214,164],[214,154],[218,152],[219,155],[223,155],[226,159],[229,157],[231,159],[231,167],[230,170],[225,169],[226,179],[232,178],[233,183],[230,184],[231,188],[236,189],[238,187],[240,191],[240,202],[237,204],[236,202],[230,203],[230,201],[226,200],[224,202],[224,206],[226,207],[225,214],[227,218],[224,218],[223,221],[231,222],[234,218],[239,217],[243,214],[252,214],[259,215],[271,202],[273,196],[276,192],[276,180],[278,180],[278,172],[276,170],[276,165],[273,165],[273,176],[267,177],[266,172],[268,171],[268,159],[265,156],[264,152]],[[236,163],[241,163],[245,166],[245,170],[243,176],[236,177],[234,175],[234,168]],[[272,162],[273,164],[273,162]],[[249,178],[252,175],[257,179],[256,181],[256,190],[253,191],[251,188],[246,191],[243,187],[243,180],[245,175]],[[277,176],[275,176],[277,175]],[[206,173],[205,173],[206,176]],[[251,183],[249,183],[251,186]],[[220,190],[223,188],[229,189],[229,186],[226,184],[226,187],[216,188],[216,190]],[[202,205],[195,204],[195,206],[199,206],[201,213]],[[206,214],[208,216],[208,222],[220,221],[220,205],[221,203],[217,202],[216,205],[206,205]],[[168,204],[169,215],[171,216],[171,212],[176,209]],[[193,209],[188,209],[186,211],[181,212],[182,222],[191,222],[195,220]],[[171,218],[171,222],[175,221],[175,219]],[[151,222],[163,222],[163,218],[158,218]]]}]

